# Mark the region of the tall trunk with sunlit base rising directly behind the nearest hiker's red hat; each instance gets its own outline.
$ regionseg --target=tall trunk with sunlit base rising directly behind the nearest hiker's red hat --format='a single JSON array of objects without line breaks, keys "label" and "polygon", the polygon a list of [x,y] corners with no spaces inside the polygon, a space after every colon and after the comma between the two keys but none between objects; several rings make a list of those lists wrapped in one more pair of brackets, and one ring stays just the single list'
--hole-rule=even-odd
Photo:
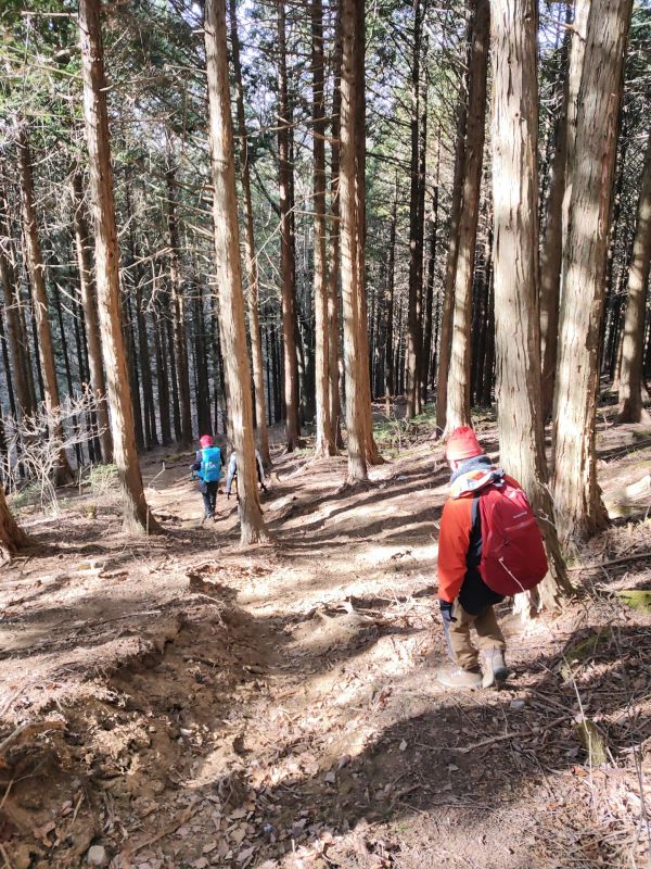
[{"label": "tall trunk with sunlit base rising directly behind the nearest hiker's red hat", "polygon": [[446,430],[470,425],[471,322],[480,188],[484,158],[486,115],[486,70],[490,16],[488,0],[472,0],[472,35],[468,85],[468,119],[465,161],[457,269],[455,276],[455,311],[448,375]]}]

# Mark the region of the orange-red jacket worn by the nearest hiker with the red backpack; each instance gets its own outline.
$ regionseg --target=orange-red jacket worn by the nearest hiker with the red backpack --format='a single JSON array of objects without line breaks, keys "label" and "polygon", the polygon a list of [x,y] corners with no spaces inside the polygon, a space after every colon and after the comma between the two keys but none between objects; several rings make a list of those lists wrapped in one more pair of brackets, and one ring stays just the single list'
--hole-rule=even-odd
[{"label": "orange-red jacket worn by the nearest hiker with the red backpack", "polygon": [[[443,507],[438,533],[438,596],[448,603],[459,595],[468,570],[473,495],[492,481],[494,470],[494,467],[485,466],[461,474],[454,481]],[[520,488],[512,477],[505,479]]]}]

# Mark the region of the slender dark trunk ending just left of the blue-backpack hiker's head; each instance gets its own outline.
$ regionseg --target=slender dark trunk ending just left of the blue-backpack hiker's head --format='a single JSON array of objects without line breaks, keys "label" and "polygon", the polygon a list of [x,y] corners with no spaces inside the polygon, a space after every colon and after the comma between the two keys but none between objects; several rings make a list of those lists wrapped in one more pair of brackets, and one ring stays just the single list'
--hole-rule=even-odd
[{"label": "slender dark trunk ending just left of the blue-backpack hiker's head", "polygon": [[173,166],[165,173],[167,180],[167,228],[169,232],[169,282],[171,285],[171,317],[174,329],[174,350],[176,357],[176,382],[181,414],[181,437],[183,446],[192,443],[192,407],[190,404],[190,371],[188,367],[188,342],[186,340],[186,299],[181,277],[179,224],[177,217],[176,169]]}]

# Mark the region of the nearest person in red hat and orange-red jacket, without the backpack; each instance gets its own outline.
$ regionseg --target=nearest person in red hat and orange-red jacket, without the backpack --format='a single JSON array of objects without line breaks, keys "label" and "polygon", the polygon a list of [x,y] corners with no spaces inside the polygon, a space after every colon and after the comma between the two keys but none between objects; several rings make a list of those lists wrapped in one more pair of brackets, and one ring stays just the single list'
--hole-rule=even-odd
[{"label": "nearest person in red hat and orange-red jacket, without the backpack", "polygon": [[[478,492],[495,479],[515,480],[495,468],[469,426],[450,434],[446,458],[452,470],[451,488],[441,517],[438,537],[438,603],[449,655],[454,662],[437,673],[446,688],[484,688],[503,682],[509,671],[505,664],[505,638],[493,605],[503,595],[488,588],[480,574],[482,529]],[[499,475],[499,476],[498,476]],[[484,673],[478,652],[470,641],[470,629],[477,635],[484,654]]]}]

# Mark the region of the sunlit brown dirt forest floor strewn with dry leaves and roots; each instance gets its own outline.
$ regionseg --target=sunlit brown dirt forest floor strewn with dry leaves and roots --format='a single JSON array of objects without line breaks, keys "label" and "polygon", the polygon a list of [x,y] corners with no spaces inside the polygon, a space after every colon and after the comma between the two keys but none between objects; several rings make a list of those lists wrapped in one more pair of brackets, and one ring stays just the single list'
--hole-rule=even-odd
[{"label": "sunlit brown dirt forest floor strewn with dry leaves and roots", "polygon": [[[651,432],[609,414],[614,509]],[[394,457],[355,490],[345,457],[278,449],[275,543],[247,551],[233,500],[200,526],[190,454],[142,459],[161,537],[126,539],[97,480],[56,517],[23,508],[39,549],[0,574],[0,866],[649,865],[651,615],[620,594],[651,589],[649,496],[577,553],[561,617],[523,630],[502,607],[507,687],[452,694],[442,448],[381,433]]]}]

